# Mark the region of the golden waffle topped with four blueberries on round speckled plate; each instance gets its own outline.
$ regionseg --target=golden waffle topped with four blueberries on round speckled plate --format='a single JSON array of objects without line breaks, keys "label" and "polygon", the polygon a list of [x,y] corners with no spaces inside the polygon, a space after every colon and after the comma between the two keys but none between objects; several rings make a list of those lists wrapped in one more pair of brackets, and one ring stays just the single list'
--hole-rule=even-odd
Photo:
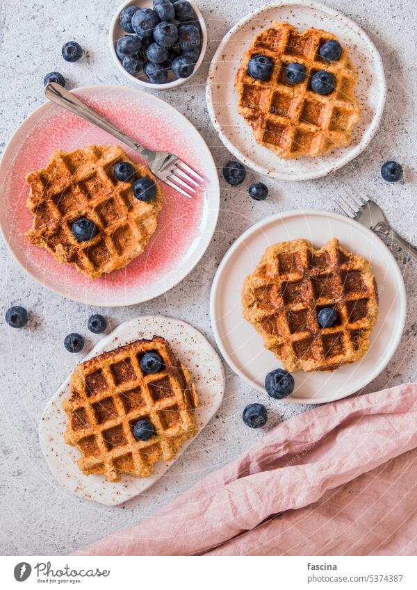
[{"label": "golden waffle topped with four blueberries on round speckled plate", "polygon": [[[321,156],[352,141],[352,129],[361,113],[354,97],[358,74],[345,47],[337,61],[320,57],[318,49],[329,39],[336,35],[316,28],[299,34],[291,24],[274,22],[256,35],[240,63],[235,82],[238,113],[252,126],[256,141],[280,158]],[[274,63],[267,81],[247,74],[247,63],[256,54]],[[306,68],[300,84],[291,85],[285,79],[291,62]],[[336,88],[329,95],[311,90],[311,76],[322,69],[336,79]]]}]

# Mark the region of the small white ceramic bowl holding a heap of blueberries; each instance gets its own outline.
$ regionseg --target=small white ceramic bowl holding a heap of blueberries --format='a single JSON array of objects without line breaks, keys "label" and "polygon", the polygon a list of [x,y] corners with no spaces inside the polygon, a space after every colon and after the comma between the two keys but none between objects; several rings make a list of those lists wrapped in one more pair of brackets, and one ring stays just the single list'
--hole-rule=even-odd
[{"label": "small white ceramic bowl holding a heap of blueberries", "polygon": [[204,60],[204,55],[206,54],[207,28],[206,23],[204,22],[204,18],[202,17],[202,13],[200,13],[195,3],[190,2],[190,4],[191,6],[193,6],[195,18],[196,20],[198,20],[199,26],[202,30],[202,50],[200,51],[199,58],[194,66],[194,72],[193,74],[191,74],[191,76],[188,76],[188,78],[176,78],[174,74],[172,74],[172,72],[170,71],[168,73],[168,81],[165,82],[165,84],[152,84],[151,82],[148,82],[147,77],[145,76],[145,72],[143,72],[143,70],[141,70],[137,76],[129,74],[129,72],[126,72],[126,69],[124,69],[124,67],[122,66],[122,63],[120,62],[116,54],[117,39],[119,39],[123,35],[128,34],[126,33],[126,31],[122,29],[119,22],[119,16],[123,8],[126,8],[126,6],[152,8],[152,0],[129,0],[128,2],[123,2],[122,4],[120,4],[119,8],[117,8],[115,12],[115,15],[113,16],[113,20],[110,25],[110,30],[108,32],[108,42],[110,44],[110,52],[111,56],[113,57],[113,61],[115,62],[117,68],[120,69],[120,72],[122,72],[128,80],[142,86],[142,88],[154,88],[155,90],[169,90],[170,88],[177,88],[177,86],[181,86],[181,84],[190,80],[194,76],[195,72],[197,72],[197,69],[199,69],[200,65],[202,64]]}]

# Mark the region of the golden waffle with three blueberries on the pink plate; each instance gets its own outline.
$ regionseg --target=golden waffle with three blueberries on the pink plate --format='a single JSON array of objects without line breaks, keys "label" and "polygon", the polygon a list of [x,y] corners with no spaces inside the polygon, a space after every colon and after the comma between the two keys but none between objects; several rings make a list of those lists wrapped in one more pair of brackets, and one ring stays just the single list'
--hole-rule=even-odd
[{"label": "golden waffle with three blueberries on the pink plate", "polygon": [[[138,201],[130,182],[115,179],[117,161],[130,162],[138,176],[154,180],[157,192],[151,202]],[[131,162],[120,146],[56,150],[47,167],[31,172],[26,180],[27,205],[35,216],[26,237],[92,279],[126,266],[143,252],[156,230],[161,187],[149,169]],[[71,224],[81,217],[97,225],[97,236],[88,242],[72,235]]]}]

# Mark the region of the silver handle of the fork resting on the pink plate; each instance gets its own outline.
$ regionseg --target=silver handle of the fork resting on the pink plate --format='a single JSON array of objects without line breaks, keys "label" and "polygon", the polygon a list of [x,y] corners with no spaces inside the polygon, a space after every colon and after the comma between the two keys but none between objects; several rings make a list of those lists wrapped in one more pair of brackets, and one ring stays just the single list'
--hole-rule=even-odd
[{"label": "silver handle of the fork resting on the pink plate", "polygon": [[63,86],[57,84],[55,82],[49,82],[45,87],[45,96],[52,102],[58,104],[58,106],[69,110],[70,113],[74,113],[75,115],[79,115],[85,121],[92,123],[93,125],[97,125],[100,129],[107,131],[113,137],[117,138],[118,140],[122,141],[126,145],[129,145],[135,151],[138,151],[139,154],[143,156],[147,156],[146,152],[148,151],[145,147],[140,145],[137,141],[133,138],[129,137],[124,133],[121,129],[117,129],[106,117],[103,115],[99,115],[96,113],[95,110],[87,106],[85,102],[81,101],[77,98],[72,92],[68,92],[65,90]]}]

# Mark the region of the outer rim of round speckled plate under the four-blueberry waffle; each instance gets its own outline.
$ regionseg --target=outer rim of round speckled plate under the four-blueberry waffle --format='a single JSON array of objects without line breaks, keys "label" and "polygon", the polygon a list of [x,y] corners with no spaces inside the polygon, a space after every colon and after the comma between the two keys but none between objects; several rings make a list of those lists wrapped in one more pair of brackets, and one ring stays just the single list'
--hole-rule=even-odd
[{"label": "outer rim of round speckled plate under the four-blueberry waffle", "polygon": [[[300,6],[303,6],[304,8],[310,7],[313,8],[313,10],[320,10],[323,13],[327,13],[331,17],[337,17],[339,21],[344,20],[348,24],[348,26],[352,28],[352,31],[354,31],[354,33],[357,33],[357,35],[361,36],[363,40],[365,40],[370,45],[370,47],[373,48],[373,50],[375,51],[375,60],[377,62],[377,67],[379,70],[377,76],[379,83],[382,86],[382,92],[381,97],[379,99],[377,111],[373,117],[372,123],[368,127],[367,133],[363,135],[360,142],[354,148],[352,148],[350,151],[347,151],[347,153],[344,156],[341,156],[337,160],[329,163],[327,169],[321,170],[319,172],[296,172],[295,174],[287,174],[285,172],[275,172],[273,170],[268,170],[267,168],[258,165],[254,161],[247,158],[247,156],[245,156],[245,154],[243,154],[243,152],[240,151],[240,149],[238,149],[238,147],[236,147],[234,143],[229,141],[229,138],[227,138],[227,136],[222,130],[222,126],[220,125],[220,123],[218,123],[217,117],[215,115],[215,108],[213,106],[212,88],[214,85],[215,67],[218,63],[221,54],[224,52],[227,43],[229,42],[229,38],[231,38],[231,36],[234,35],[234,33],[236,33],[236,31],[238,31],[239,28],[245,26],[247,22],[249,22],[252,18],[262,13],[264,10],[270,10],[271,8],[280,8],[282,6],[286,6],[287,4],[291,6],[300,4]],[[220,45],[218,46],[218,49],[215,51],[215,54],[211,60],[210,68],[208,69],[208,76],[206,82],[206,104],[208,108],[208,114],[210,115],[211,123],[213,124],[215,131],[217,131],[224,146],[227,147],[231,154],[234,154],[236,158],[238,158],[240,161],[242,161],[245,165],[250,167],[255,172],[259,172],[259,174],[264,174],[265,176],[275,178],[277,180],[303,181],[322,178],[327,176],[328,174],[331,174],[332,172],[335,172],[336,170],[339,170],[341,167],[345,166],[354,158],[357,158],[357,156],[359,156],[359,154],[361,154],[362,151],[366,149],[366,147],[368,147],[370,141],[373,139],[373,136],[375,136],[375,133],[379,127],[379,123],[381,122],[382,113],[384,112],[384,106],[386,101],[386,91],[387,90],[386,79],[384,74],[384,65],[382,63],[382,58],[379,55],[379,51],[375,47],[373,41],[370,39],[369,35],[365,31],[363,31],[363,28],[361,28],[356,22],[354,22],[349,17],[345,16],[343,13],[338,12],[333,8],[330,8],[329,6],[325,6],[324,4],[314,2],[311,0],[277,0],[275,2],[269,2],[267,4],[264,4],[260,8],[256,8],[256,10],[253,10],[252,13],[249,13],[248,15],[243,17],[243,19],[240,19],[240,21],[236,23],[234,26],[232,26],[226,33],[226,35],[224,35],[224,38],[220,42]]]}]

